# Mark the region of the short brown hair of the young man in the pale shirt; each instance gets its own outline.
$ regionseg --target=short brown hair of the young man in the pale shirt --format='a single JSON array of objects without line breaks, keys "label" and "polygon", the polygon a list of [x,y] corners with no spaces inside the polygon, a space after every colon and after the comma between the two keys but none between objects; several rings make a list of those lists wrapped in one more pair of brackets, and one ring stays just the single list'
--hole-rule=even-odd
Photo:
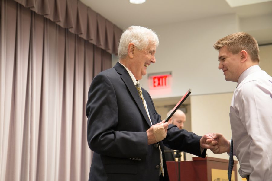
[{"label": "short brown hair of the young man in the pale shirt", "polygon": [[248,33],[238,32],[230,34],[219,39],[213,45],[213,47],[217,50],[223,46],[226,46],[228,51],[232,52],[232,54],[237,54],[242,50],[245,50],[250,55],[252,62],[260,62],[257,40]]}]

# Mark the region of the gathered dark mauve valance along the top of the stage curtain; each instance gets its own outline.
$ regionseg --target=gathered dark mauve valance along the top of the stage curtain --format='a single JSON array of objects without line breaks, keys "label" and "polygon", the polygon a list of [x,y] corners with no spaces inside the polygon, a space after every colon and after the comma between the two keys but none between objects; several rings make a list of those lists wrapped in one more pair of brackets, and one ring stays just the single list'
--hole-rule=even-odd
[{"label": "gathered dark mauve valance along the top of the stage curtain", "polygon": [[[79,0],[14,0],[111,54],[122,30]],[[114,28],[113,28],[114,27]],[[97,36],[96,36],[97,35]],[[115,38],[113,38],[115,37]],[[115,45],[115,46],[113,46]]]}]

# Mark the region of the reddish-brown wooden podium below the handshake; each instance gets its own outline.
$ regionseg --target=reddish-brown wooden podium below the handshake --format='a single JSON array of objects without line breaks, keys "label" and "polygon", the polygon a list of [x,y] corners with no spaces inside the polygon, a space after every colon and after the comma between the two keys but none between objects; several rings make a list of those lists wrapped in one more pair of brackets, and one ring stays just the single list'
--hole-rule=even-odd
[{"label": "reddish-brown wooden podium below the handshake", "polygon": [[[193,161],[167,161],[166,164],[170,181],[214,181],[212,169],[223,170],[223,172],[228,170],[228,160],[213,157],[193,157]],[[232,170],[235,176],[234,181],[237,181],[236,164],[237,161],[234,161]]]}]

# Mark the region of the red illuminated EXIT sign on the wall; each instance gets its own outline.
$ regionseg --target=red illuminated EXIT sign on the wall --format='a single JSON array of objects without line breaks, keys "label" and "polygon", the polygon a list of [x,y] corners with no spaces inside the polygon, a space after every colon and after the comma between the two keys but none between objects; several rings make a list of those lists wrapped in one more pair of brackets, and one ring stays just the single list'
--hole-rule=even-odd
[{"label": "red illuminated EXIT sign on the wall", "polygon": [[171,72],[157,75],[148,75],[148,84],[150,89],[161,89],[171,87]]}]

